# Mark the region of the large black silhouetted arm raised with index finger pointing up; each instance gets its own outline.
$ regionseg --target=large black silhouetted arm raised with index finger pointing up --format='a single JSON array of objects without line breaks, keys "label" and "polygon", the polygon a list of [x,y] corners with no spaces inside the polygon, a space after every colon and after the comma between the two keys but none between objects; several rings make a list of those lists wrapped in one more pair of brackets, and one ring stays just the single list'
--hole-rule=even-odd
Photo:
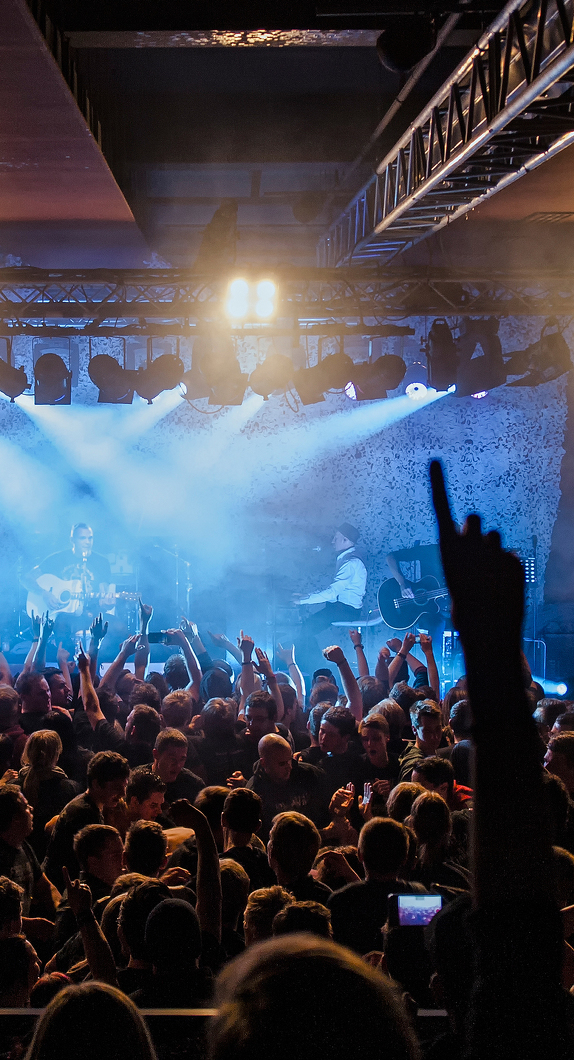
[{"label": "large black silhouetted arm raised with index finger pointing up", "polygon": [[563,1055],[561,923],[539,740],[521,675],[524,572],[469,515],[459,532],[443,469],[431,464],[441,554],[463,643],[476,744],[476,982],[468,1056]]}]

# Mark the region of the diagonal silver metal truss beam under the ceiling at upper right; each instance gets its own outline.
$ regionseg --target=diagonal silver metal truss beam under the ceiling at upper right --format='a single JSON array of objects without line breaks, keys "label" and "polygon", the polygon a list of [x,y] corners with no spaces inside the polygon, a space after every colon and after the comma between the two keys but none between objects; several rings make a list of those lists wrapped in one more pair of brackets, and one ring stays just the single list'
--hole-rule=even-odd
[{"label": "diagonal silver metal truss beam under the ceiling at upper right", "polygon": [[574,0],[509,0],[318,248],[388,263],[574,143]]}]

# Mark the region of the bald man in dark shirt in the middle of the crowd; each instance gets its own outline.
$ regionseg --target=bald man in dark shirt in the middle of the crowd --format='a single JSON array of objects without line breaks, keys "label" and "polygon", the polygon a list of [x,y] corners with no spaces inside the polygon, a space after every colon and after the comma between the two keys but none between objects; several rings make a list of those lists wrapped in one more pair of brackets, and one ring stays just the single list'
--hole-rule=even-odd
[{"label": "bald man in dark shirt in the middle of the crowd", "polygon": [[293,762],[291,747],[283,737],[268,732],[259,740],[259,761],[246,788],[262,799],[261,837],[269,836],[277,813],[298,810],[311,820],[321,820],[328,807],[324,775],[307,762]]}]

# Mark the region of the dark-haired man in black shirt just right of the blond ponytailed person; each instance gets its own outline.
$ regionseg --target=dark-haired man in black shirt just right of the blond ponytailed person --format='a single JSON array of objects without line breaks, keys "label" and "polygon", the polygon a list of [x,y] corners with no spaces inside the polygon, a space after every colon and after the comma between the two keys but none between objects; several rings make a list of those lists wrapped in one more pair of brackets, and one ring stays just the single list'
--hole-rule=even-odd
[{"label": "dark-haired man in black shirt just right of the blond ponytailed person", "polygon": [[103,825],[104,810],[113,809],[125,797],[129,764],[114,750],[101,750],[88,764],[88,788],[61,811],[43,862],[49,880],[64,890],[62,866],[75,880],[79,865],[74,853],[74,835],[86,825]]}]

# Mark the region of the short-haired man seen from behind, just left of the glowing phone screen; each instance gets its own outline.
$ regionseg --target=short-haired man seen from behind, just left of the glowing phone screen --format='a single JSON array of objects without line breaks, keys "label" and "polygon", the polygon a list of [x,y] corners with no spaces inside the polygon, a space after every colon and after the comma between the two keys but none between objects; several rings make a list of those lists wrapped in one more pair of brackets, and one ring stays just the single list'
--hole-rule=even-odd
[{"label": "short-haired man seen from behind, just left of the glowing phone screen", "polygon": [[389,895],[425,891],[421,884],[407,883],[400,878],[408,852],[409,838],[403,825],[390,817],[366,822],[359,835],[359,858],[365,879],[336,890],[327,902],[336,942],[360,954],[382,949],[381,929],[387,920]]}]

